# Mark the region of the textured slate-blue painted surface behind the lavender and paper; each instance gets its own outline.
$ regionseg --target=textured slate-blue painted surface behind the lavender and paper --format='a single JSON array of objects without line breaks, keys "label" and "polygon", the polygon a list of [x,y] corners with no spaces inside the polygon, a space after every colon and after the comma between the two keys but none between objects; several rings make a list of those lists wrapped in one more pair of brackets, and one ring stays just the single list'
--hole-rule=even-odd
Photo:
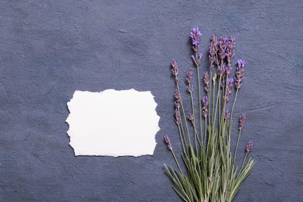
[{"label": "textured slate-blue painted surface behind the lavender and paper", "polygon": [[[212,33],[247,61],[234,117],[246,113],[240,146],[254,140],[258,162],[234,202],[302,202],[302,13],[301,0],[2,0],[0,201],[181,202],[163,173],[165,134],[180,152],[170,60],[185,77],[198,26],[204,69]],[[66,103],[111,88],[155,96],[154,155],[74,156]]]}]

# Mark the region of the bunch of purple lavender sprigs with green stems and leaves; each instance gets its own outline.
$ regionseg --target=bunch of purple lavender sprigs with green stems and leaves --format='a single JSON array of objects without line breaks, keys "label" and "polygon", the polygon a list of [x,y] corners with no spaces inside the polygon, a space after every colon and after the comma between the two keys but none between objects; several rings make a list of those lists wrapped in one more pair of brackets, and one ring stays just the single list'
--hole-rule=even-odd
[{"label": "bunch of purple lavender sprigs with green stems and leaves", "polygon": [[[179,67],[174,59],[171,61],[171,71],[177,86],[174,93],[176,98],[174,103],[175,123],[179,128],[182,141],[183,168],[186,171],[182,170],[167,135],[165,135],[165,141],[176,161],[177,169],[167,167],[166,164],[164,166],[166,174],[175,185],[173,189],[185,202],[231,202],[256,163],[251,157],[246,161],[253,146],[253,142],[250,140],[246,145],[242,167],[238,169],[236,165],[236,153],[245,122],[245,114],[242,114],[239,119],[239,134],[235,152],[232,154],[230,151],[232,116],[242,85],[246,62],[238,60],[236,75],[234,78],[231,77],[235,38],[228,39],[227,36],[223,36],[218,40],[215,35],[212,35],[209,46],[210,68],[203,74],[201,80],[203,80],[204,88],[201,90],[199,75],[199,65],[202,59],[202,53],[199,52],[201,35],[198,28],[192,28],[190,37],[194,55],[191,57],[197,67],[198,78],[199,107],[197,113],[195,113],[194,86],[192,85],[195,69],[189,68],[185,77],[187,93],[191,100],[191,106],[189,106],[191,111],[185,113],[178,77]],[[227,109],[227,102],[234,89],[233,104],[230,105],[231,109]]]}]

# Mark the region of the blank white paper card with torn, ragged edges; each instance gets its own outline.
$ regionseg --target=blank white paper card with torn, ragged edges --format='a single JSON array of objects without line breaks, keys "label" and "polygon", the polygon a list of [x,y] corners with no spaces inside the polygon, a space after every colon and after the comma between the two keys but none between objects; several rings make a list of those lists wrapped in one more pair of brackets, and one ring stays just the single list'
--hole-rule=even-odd
[{"label": "blank white paper card with torn, ragged edges", "polygon": [[67,106],[75,155],[153,155],[160,117],[150,91],[76,91]]}]

